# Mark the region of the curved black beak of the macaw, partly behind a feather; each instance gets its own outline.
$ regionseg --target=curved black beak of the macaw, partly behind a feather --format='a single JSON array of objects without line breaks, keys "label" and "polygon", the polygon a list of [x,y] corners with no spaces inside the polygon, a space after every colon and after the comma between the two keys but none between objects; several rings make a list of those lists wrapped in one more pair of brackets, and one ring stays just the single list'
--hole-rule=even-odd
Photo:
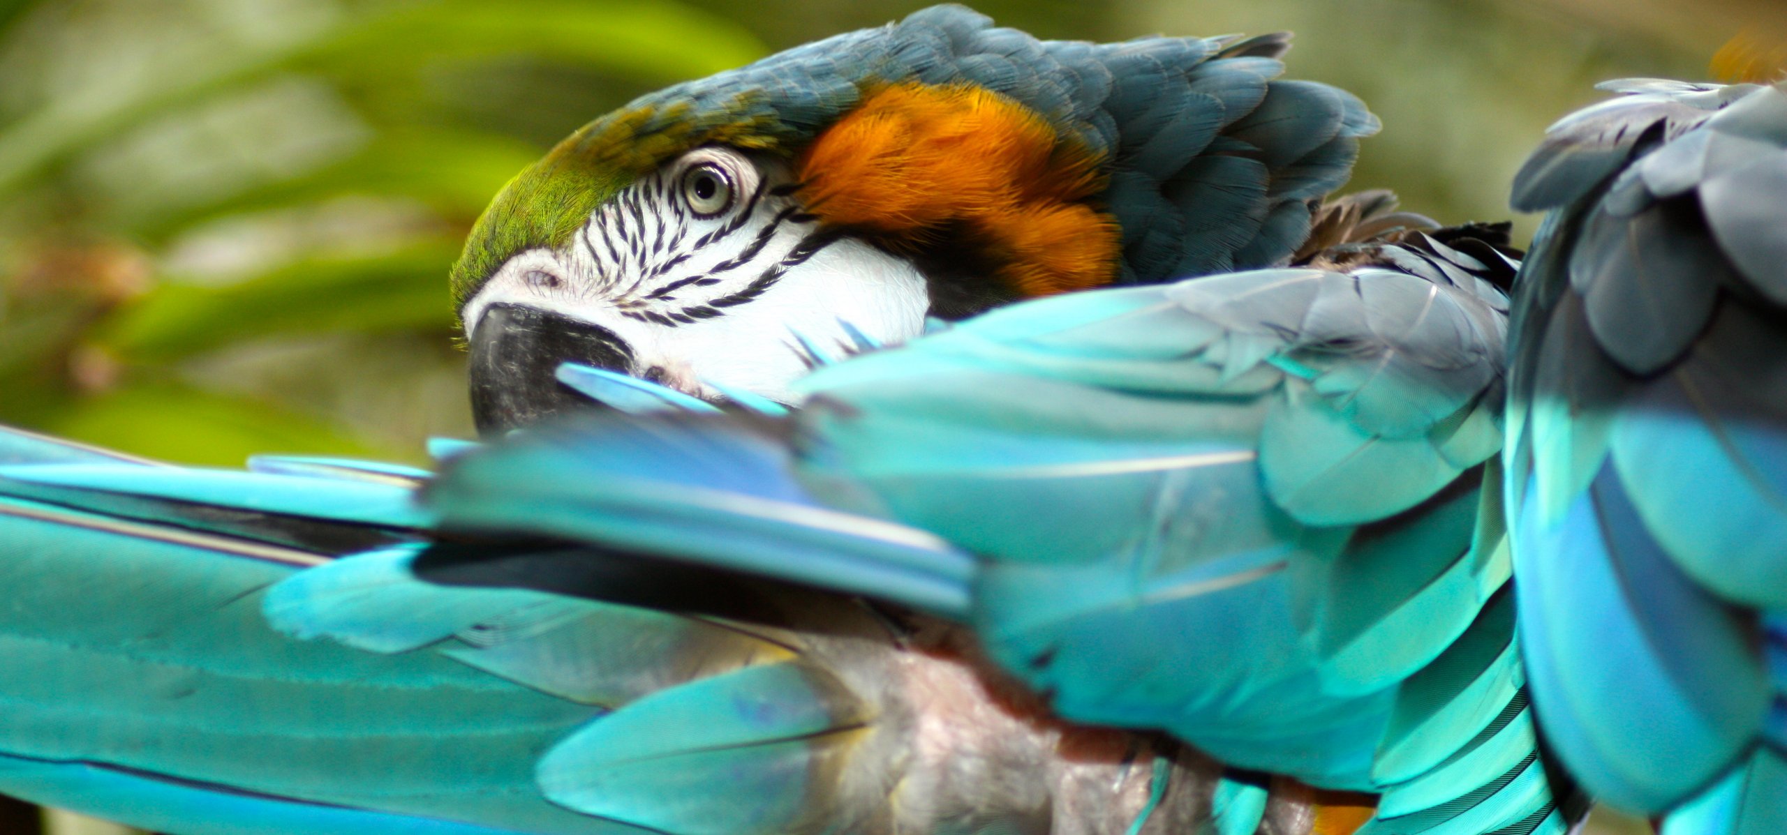
[{"label": "curved black beak of the macaw, partly behind a feather", "polygon": [[472,327],[472,419],[484,437],[588,400],[558,382],[563,362],[627,373],[633,350],[613,330],[516,305],[491,305]]}]

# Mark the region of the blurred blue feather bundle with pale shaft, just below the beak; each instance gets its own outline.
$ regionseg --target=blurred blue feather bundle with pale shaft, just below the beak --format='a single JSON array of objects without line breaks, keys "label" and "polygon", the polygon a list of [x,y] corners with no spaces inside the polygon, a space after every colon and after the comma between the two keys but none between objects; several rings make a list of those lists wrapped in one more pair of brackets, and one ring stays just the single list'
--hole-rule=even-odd
[{"label": "blurred blue feather bundle with pale shaft, just below the beak", "polygon": [[849,503],[851,491],[817,487],[793,476],[772,435],[693,421],[529,437],[452,462],[429,500],[452,532],[593,541],[945,614],[965,607],[967,555],[883,517],[867,496],[827,507],[815,492]]}]

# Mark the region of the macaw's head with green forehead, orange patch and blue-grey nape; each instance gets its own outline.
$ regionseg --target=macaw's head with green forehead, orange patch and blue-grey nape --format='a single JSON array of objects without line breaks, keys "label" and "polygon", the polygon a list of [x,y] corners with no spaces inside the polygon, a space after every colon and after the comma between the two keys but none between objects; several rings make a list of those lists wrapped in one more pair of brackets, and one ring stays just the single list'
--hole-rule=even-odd
[{"label": "macaw's head with green forehead, orange patch and blue-grey nape", "polygon": [[642,96],[511,180],[454,266],[479,428],[577,401],[566,360],[788,401],[802,344],[1283,262],[1376,130],[1274,82],[1285,48],[1038,41],[945,5]]}]

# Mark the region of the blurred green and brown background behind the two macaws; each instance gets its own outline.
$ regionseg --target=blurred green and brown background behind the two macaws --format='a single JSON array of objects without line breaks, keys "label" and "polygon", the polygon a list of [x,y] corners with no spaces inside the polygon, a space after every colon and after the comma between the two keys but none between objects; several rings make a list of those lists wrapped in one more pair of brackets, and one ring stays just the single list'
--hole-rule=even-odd
[{"label": "blurred green and brown background behind the two macaws", "polygon": [[[638,93],[920,5],[0,0],[0,423],[198,464],[420,460],[470,435],[445,275],[509,175]],[[1387,125],[1351,187],[1446,221],[1506,218],[1594,82],[1787,45],[1780,0],[979,7],[1044,37],[1294,30],[1290,75]]]}]

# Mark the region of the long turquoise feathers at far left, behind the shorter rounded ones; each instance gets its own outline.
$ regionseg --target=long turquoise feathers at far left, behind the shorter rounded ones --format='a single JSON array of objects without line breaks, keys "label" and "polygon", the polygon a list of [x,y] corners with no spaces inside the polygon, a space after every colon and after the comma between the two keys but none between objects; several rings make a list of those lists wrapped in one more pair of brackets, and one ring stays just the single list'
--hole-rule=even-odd
[{"label": "long turquoise feathers at far left, behind the shorter rounded ones", "polygon": [[277,476],[247,496],[254,508],[202,505],[191,475],[0,476],[0,790],[173,833],[629,830],[533,789],[536,751],[600,708],[438,653],[372,657],[264,623],[266,587],[331,558],[322,525],[357,546],[409,512],[325,521],[313,494],[277,498]]}]

